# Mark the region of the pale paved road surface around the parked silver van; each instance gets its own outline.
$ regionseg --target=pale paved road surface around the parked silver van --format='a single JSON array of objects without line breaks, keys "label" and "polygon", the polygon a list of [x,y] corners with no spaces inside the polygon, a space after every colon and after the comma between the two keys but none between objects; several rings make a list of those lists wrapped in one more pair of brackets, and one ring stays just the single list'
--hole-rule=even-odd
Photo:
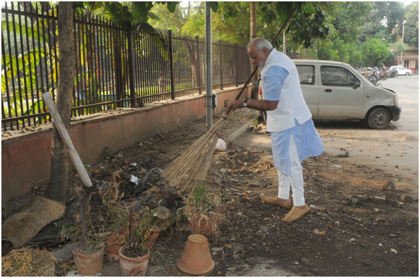
[{"label": "pale paved road surface around the parked silver van", "polygon": [[[385,130],[370,129],[367,122],[315,122],[326,153],[349,151],[347,158],[337,158],[338,164],[355,163],[383,169],[389,174],[401,175],[394,180],[397,187],[409,189],[414,198],[419,196],[419,76],[399,76],[381,81],[381,86],[392,89],[399,96],[402,109],[398,122]],[[245,133],[235,145],[256,149],[271,149],[269,136]],[[384,176],[384,179],[392,176]]]}]

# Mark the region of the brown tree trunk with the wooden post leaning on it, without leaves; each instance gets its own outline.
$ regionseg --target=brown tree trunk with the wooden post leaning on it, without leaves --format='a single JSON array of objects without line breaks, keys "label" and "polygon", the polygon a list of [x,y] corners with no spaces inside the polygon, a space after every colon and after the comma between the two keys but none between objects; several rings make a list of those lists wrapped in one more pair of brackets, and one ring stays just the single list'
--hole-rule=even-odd
[{"label": "brown tree trunk with the wooden post leaning on it, without leaves", "polygon": [[[66,129],[71,118],[71,98],[76,76],[76,52],[73,40],[73,2],[60,2],[58,8],[58,46],[60,68],[58,72],[58,93],[56,105]],[[53,128],[51,154],[50,189],[51,197],[64,201],[69,190],[69,150]]]}]

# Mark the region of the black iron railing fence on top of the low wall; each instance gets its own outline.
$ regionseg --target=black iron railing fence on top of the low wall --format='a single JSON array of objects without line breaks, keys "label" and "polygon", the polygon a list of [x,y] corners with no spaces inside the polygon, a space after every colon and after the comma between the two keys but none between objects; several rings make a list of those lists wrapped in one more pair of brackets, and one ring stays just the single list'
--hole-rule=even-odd
[{"label": "black iron railing fence on top of the low wall", "polygon": [[[54,100],[57,94],[57,10],[48,2],[5,5],[1,8],[1,122],[4,131],[33,128],[50,120],[42,93],[50,92]],[[73,30],[72,115],[205,91],[204,38],[171,30],[151,35],[89,14],[76,15]],[[244,46],[218,41],[212,52],[213,89],[246,82],[251,68]]]}]

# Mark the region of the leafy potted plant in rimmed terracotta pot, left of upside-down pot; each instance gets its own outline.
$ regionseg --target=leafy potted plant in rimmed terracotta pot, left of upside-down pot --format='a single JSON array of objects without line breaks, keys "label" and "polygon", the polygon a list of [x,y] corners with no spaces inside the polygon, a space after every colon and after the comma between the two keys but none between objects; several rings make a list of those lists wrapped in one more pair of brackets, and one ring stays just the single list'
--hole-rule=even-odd
[{"label": "leafy potted plant in rimmed terracotta pot, left of upside-down pot", "polygon": [[129,227],[133,225],[133,213],[130,211],[130,221],[125,234],[121,239],[122,248],[119,250],[120,268],[125,276],[145,276],[148,267],[150,248],[157,237],[151,238],[153,234],[153,218],[155,210],[143,214],[141,219],[134,224],[134,232]]}]

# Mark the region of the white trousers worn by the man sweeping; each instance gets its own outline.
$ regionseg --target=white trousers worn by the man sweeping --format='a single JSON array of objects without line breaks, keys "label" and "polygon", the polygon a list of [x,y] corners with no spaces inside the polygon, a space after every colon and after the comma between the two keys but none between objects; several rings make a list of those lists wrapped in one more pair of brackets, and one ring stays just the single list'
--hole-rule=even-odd
[{"label": "white trousers worn by the man sweeping", "polygon": [[302,172],[302,166],[297,154],[297,148],[293,135],[290,135],[290,164],[292,168],[292,176],[286,176],[279,172],[279,198],[288,199],[290,198],[290,185],[292,186],[292,197],[293,205],[301,206],[305,205],[304,197],[304,174]]}]

